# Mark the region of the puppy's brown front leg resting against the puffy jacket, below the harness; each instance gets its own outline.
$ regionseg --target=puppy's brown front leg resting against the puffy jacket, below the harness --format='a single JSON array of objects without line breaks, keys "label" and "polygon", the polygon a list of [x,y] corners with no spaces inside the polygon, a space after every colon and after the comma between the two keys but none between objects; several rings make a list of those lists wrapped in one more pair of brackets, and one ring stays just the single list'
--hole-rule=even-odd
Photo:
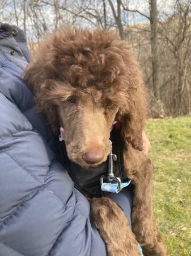
[{"label": "puppy's brown front leg resting against the puffy jacket, below the harness", "polygon": [[124,212],[108,197],[90,199],[91,220],[106,243],[109,256],[139,256],[138,242]]}]

